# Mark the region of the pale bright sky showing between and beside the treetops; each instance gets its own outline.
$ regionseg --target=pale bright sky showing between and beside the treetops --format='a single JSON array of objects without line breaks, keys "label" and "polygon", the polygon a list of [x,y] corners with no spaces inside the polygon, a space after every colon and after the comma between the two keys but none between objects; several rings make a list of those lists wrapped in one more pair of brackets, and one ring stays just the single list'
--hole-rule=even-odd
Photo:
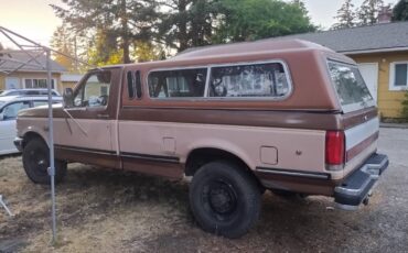
[{"label": "pale bright sky showing between and beside the treetops", "polygon": [[[364,0],[354,0],[355,7]],[[398,0],[384,0],[395,4]],[[309,15],[315,25],[329,29],[335,23],[334,16],[344,0],[304,0]],[[50,4],[62,4],[61,0],[0,0],[0,26],[20,33],[43,45],[49,45],[51,36],[62,21],[54,15]],[[0,35],[0,43],[8,45]]]}]

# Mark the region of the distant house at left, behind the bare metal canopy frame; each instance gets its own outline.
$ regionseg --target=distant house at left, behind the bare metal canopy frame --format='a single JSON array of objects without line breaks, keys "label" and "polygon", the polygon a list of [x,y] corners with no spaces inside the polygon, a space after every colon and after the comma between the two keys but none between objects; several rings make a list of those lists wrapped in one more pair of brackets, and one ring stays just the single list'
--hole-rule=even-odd
[{"label": "distant house at left, behind the bare metal canopy frame", "polygon": [[[35,53],[32,53],[35,55]],[[10,52],[0,55],[0,90],[22,88],[46,88],[47,72],[46,57],[41,55],[31,61],[26,52]],[[29,63],[23,65],[22,63]],[[63,90],[61,75],[66,69],[54,61],[51,61],[52,86],[58,91]]]}]

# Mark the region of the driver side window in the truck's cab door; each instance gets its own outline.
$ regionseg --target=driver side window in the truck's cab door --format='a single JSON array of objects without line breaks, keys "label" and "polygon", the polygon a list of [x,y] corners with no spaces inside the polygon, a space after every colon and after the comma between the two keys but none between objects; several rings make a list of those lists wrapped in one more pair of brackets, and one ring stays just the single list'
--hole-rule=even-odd
[{"label": "driver side window in the truck's cab door", "polygon": [[109,101],[111,74],[99,70],[90,74],[74,96],[74,107],[106,107]]}]

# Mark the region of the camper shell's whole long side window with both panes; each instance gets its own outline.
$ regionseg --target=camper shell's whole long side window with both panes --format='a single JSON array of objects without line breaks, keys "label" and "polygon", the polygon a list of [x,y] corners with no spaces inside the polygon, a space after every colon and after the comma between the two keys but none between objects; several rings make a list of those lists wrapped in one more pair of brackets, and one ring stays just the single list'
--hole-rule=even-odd
[{"label": "camper shell's whole long side window with both panes", "polygon": [[291,94],[292,84],[286,64],[275,61],[153,70],[148,88],[150,98],[282,100]]}]

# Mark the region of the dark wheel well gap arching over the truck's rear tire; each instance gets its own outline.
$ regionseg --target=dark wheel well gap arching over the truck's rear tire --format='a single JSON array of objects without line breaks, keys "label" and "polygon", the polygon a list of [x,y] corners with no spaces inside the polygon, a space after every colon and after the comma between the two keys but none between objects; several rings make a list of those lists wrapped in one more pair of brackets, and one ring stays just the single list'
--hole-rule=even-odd
[{"label": "dark wheel well gap arching over the truck's rear tire", "polygon": [[213,161],[217,160],[224,160],[232,163],[235,163],[239,165],[239,168],[244,168],[248,175],[254,177],[254,179],[257,182],[258,186],[260,188],[264,188],[260,184],[259,179],[255,176],[253,170],[249,168],[249,166],[238,156],[235,154],[232,154],[227,151],[219,150],[219,148],[211,148],[211,147],[204,147],[204,148],[197,148],[192,151],[189,154],[189,157],[185,162],[185,170],[184,174],[186,176],[194,176],[194,174],[204,165]]}]

